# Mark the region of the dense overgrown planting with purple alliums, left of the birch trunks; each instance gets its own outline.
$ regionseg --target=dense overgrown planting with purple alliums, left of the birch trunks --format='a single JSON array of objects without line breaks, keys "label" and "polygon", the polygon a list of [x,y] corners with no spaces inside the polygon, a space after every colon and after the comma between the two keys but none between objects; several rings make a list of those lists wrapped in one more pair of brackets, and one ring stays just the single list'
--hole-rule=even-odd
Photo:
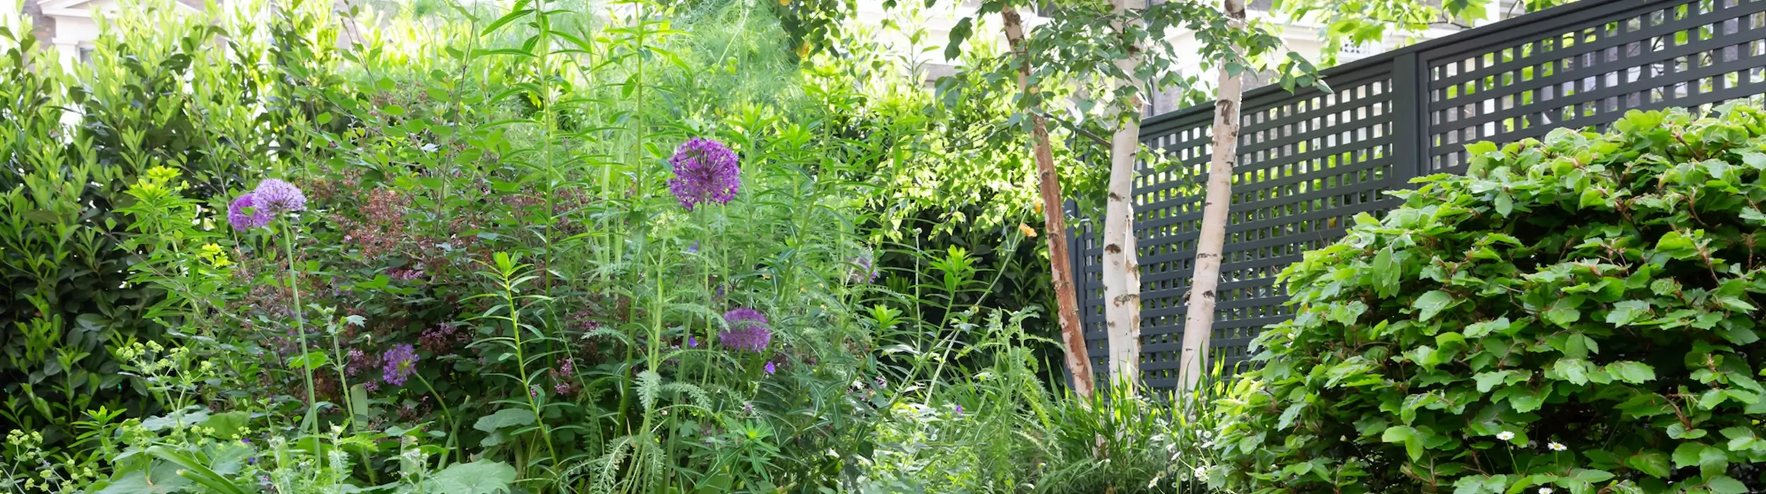
[{"label": "dense overgrown planting with purple alliums, left of the birch trunks", "polygon": [[1051,386],[1007,95],[738,2],[125,7],[65,72],[5,37],[7,490],[1160,490],[1192,448]]}]

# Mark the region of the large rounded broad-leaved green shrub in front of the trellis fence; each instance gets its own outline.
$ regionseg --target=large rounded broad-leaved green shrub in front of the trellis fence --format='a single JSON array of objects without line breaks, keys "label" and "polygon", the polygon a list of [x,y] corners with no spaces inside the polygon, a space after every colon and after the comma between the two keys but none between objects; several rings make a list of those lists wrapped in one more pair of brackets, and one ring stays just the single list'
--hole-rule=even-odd
[{"label": "large rounded broad-leaved green shrub in front of the trellis fence", "polygon": [[1247,492],[1766,487],[1766,113],[1466,146],[1287,272],[1224,400]]}]

